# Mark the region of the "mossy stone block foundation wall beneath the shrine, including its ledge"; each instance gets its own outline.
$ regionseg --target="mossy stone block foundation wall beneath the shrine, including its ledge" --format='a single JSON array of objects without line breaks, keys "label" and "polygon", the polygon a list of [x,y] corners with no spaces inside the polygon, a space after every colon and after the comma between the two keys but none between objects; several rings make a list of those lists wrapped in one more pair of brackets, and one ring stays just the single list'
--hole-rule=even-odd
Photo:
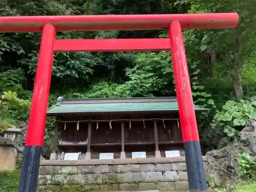
[{"label": "mossy stone block foundation wall beneath the shrine, including its ledge", "polygon": [[38,191],[66,192],[70,188],[74,191],[188,190],[185,158],[41,160]]}]

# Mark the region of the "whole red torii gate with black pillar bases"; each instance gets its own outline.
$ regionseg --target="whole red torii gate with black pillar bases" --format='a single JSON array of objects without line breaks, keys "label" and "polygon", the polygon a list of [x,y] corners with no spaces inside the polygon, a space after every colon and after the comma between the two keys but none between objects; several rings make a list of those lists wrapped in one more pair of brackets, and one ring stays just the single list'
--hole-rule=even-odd
[{"label": "whole red torii gate with black pillar bases", "polygon": [[[41,32],[19,192],[35,192],[44,140],[54,52],[169,51],[173,57],[190,190],[207,190],[182,29],[236,28],[237,13],[0,17],[0,32]],[[56,39],[56,31],[167,29],[169,38]]]}]

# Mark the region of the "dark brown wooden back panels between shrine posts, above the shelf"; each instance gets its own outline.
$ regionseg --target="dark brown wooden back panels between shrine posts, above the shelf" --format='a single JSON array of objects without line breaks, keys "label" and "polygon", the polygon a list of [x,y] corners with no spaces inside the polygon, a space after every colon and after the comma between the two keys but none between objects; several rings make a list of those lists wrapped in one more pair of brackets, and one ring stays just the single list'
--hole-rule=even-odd
[{"label": "dark brown wooden back panels between shrine posts, above the shelf", "polygon": [[[177,120],[157,121],[158,141],[181,141]],[[124,142],[154,142],[154,121],[124,122]],[[59,140],[85,142],[88,138],[88,122],[59,123]],[[91,143],[121,143],[121,122],[92,122]]]}]

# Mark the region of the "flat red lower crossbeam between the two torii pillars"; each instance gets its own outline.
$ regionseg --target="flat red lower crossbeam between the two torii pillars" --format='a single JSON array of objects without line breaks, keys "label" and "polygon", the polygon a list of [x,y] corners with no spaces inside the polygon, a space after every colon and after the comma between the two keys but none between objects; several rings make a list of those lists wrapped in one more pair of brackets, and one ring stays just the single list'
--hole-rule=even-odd
[{"label": "flat red lower crossbeam between the two torii pillars", "polygon": [[144,39],[60,39],[55,52],[169,51],[169,38]]}]

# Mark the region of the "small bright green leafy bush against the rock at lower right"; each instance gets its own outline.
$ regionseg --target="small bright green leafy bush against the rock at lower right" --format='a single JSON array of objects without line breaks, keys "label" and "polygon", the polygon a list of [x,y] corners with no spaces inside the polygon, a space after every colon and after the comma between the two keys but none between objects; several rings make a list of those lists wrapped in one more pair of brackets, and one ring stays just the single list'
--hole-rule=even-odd
[{"label": "small bright green leafy bush against the rock at lower right", "polygon": [[248,153],[240,154],[236,158],[239,167],[238,176],[242,179],[251,179],[256,174],[256,162]]}]

